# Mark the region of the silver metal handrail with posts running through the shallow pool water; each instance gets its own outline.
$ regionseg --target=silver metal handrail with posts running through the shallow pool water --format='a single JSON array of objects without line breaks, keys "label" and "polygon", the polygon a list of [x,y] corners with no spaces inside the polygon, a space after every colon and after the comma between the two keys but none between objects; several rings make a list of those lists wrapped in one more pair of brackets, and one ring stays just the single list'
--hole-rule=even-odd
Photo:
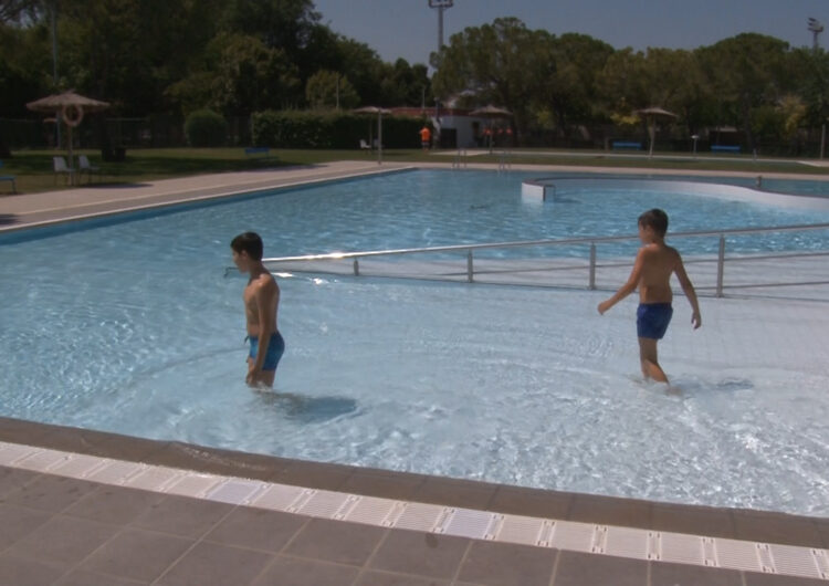
[{"label": "silver metal handrail with posts running through the shallow pool water", "polygon": [[[816,224],[790,224],[790,226],[776,226],[776,227],[762,227],[762,228],[731,228],[726,230],[700,230],[690,232],[673,232],[671,238],[704,238],[704,237],[718,237],[718,250],[717,250],[717,268],[716,268],[716,296],[723,296],[724,287],[724,269],[725,269],[725,238],[728,236],[744,236],[744,234],[759,234],[770,232],[804,232],[815,230],[827,230],[829,223],[816,223]],[[418,253],[439,253],[439,252],[465,252],[466,254],[466,281],[474,282],[474,251],[479,250],[491,250],[491,249],[510,249],[510,248],[528,248],[528,247],[545,247],[545,245],[574,245],[585,244],[589,245],[589,276],[588,276],[588,289],[596,289],[596,269],[597,254],[596,244],[607,242],[625,242],[631,240],[639,240],[639,236],[613,236],[613,237],[581,237],[581,238],[565,238],[565,239],[546,239],[546,240],[522,240],[512,242],[487,242],[482,244],[452,244],[445,247],[421,247],[421,248],[408,248],[408,249],[389,249],[389,250],[369,250],[360,252],[328,252],[323,254],[303,254],[298,257],[275,257],[262,259],[262,262],[267,264],[277,264],[283,262],[306,262],[306,261],[332,261],[332,260],[353,260],[353,272],[355,276],[359,276],[359,260],[377,257],[392,257],[402,254],[418,254]],[[815,253],[805,253],[806,255],[814,255]],[[784,254],[778,257],[794,257],[793,254]],[[765,258],[772,258],[766,255]],[[736,259],[735,259],[736,260]],[[225,272],[227,274],[227,272]]]}]

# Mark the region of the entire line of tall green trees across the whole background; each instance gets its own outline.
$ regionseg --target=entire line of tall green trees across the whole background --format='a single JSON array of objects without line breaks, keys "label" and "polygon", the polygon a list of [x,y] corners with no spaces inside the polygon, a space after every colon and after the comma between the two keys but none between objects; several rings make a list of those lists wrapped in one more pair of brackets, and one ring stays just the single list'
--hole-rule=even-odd
[{"label": "entire line of tall green trees across the whole background", "polygon": [[796,140],[829,116],[829,54],[754,33],[633,51],[503,18],[452,35],[431,65],[430,77],[424,64],[384,62],[323,24],[312,0],[0,1],[0,117],[29,116],[27,102],[69,87],[122,116],[414,106],[437,95],[513,111],[525,143],[636,125],[632,112],[661,106],[686,136],[733,126],[752,147]]}]

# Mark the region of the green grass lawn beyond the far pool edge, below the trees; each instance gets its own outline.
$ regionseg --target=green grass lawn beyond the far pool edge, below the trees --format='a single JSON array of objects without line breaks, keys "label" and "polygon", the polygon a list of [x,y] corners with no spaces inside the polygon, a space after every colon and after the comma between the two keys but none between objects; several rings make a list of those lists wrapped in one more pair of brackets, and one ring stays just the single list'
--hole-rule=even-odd
[{"label": "green grass lawn beyond the far pool edge, below the trees", "polygon": [[[64,155],[53,150],[19,150],[3,161],[0,175],[14,175],[18,191],[31,193],[49,191],[65,186],[62,177],[52,172],[52,157]],[[294,150],[271,149],[269,156],[245,155],[243,148],[147,148],[127,150],[126,160],[104,163],[97,150],[78,150],[85,154],[93,165],[101,168],[96,181],[101,184],[139,184],[156,179],[183,177],[188,175],[239,171],[295,165],[312,165],[333,160],[372,160],[376,153],[360,150]],[[501,155],[478,155],[469,157],[469,163],[499,163]],[[385,149],[384,160],[389,163],[441,161],[451,163],[452,156],[423,154],[420,149]],[[827,175],[829,168],[814,167],[796,159],[755,161],[751,156],[702,155],[692,158],[683,154],[655,154],[649,159],[644,154],[613,156],[604,151],[557,151],[552,149],[516,149],[511,153],[513,164],[569,165],[591,167],[629,167],[688,170],[723,170],[748,172],[795,172]],[[0,192],[11,191],[10,184],[0,184]]]}]

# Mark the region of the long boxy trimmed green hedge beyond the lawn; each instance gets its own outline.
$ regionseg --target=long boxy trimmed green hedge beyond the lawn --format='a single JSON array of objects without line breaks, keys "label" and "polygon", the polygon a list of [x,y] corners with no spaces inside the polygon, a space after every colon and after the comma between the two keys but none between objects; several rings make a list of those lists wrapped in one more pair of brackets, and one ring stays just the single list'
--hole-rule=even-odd
[{"label": "long boxy trimmed green hedge beyond the lawn", "polygon": [[[422,126],[422,118],[384,114],[382,146],[418,148]],[[272,148],[359,148],[360,138],[377,138],[377,115],[269,109],[251,116],[251,136]]]}]

